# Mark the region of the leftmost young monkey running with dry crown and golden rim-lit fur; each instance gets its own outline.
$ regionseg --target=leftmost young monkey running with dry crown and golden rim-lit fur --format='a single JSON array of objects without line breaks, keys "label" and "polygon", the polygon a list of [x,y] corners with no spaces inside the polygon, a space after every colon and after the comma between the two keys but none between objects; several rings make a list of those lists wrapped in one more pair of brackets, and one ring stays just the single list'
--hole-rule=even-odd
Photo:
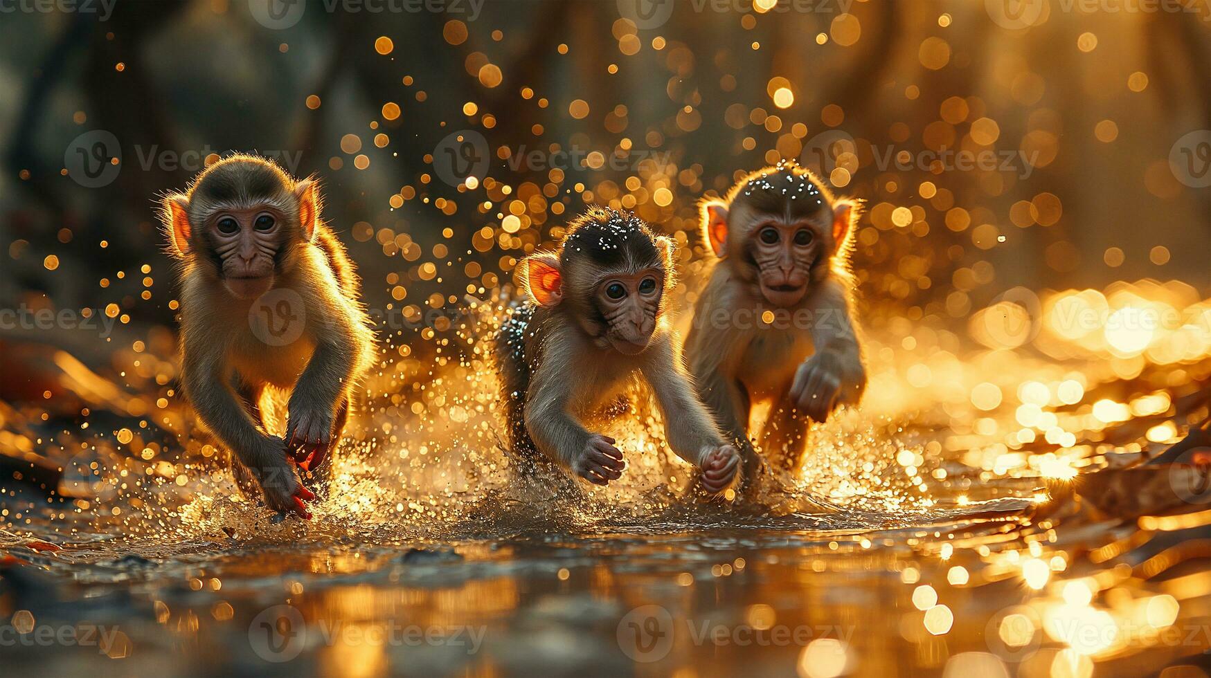
[{"label": "leftmost young monkey running with dry crown and golden rim-lit fur", "polygon": [[[315,495],[288,460],[328,469],[373,362],[354,266],[320,209],[314,179],[242,154],[161,203],[180,272],[185,396],[237,460],[242,489],[259,487],[270,508],[305,518]],[[291,390],[285,439],[262,420],[266,386]]]}]

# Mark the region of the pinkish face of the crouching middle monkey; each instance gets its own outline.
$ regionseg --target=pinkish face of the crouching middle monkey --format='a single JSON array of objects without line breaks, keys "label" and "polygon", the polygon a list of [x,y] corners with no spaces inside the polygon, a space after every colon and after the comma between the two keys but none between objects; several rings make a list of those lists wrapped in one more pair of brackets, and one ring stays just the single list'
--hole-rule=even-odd
[{"label": "pinkish face of the crouching middle monkey", "polygon": [[593,292],[593,304],[606,320],[606,340],[620,354],[642,354],[656,331],[665,289],[665,271],[648,268],[633,274],[610,274]]}]

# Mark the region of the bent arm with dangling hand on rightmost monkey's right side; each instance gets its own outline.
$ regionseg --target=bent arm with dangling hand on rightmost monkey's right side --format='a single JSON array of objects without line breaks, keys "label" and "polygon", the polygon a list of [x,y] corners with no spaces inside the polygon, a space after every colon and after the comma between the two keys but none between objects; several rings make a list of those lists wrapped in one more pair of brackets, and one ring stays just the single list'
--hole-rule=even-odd
[{"label": "bent arm with dangling hand on rightmost monkey's right side", "polygon": [[813,291],[808,308],[815,352],[796,370],[791,398],[811,419],[826,421],[838,404],[861,400],[866,367],[844,283],[830,277]]}]

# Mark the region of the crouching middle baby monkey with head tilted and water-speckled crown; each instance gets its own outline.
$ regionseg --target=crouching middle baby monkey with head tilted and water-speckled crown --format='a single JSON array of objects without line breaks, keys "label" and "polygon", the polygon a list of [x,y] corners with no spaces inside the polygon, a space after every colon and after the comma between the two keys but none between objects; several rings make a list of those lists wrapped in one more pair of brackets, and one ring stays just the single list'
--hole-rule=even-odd
[{"label": "crouching middle baby monkey with head tilted and water-speckled crown", "polygon": [[642,219],[591,207],[556,252],[521,262],[529,301],[495,339],[513,449],[536,449],[590,483],[622,475],[614,438],[581,423],[616,402],[642,375],[664,415],[668,446],[701,470],[711,494],[739,477],[728,444],[694,395],[665,299],[673,288],[673,242]]}]

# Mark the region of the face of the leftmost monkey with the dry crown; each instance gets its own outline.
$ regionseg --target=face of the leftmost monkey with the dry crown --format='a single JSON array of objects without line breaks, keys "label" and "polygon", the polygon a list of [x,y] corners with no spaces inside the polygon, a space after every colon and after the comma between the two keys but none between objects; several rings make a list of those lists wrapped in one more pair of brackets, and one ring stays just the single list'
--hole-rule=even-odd
[{"label": "face of the leftmost monkey with the dry crown", "polygon": [[283,246],[283,216],[266,206],[222,209],[206,220],[206,228],[224,287],[237,299],[269,292]]}]

